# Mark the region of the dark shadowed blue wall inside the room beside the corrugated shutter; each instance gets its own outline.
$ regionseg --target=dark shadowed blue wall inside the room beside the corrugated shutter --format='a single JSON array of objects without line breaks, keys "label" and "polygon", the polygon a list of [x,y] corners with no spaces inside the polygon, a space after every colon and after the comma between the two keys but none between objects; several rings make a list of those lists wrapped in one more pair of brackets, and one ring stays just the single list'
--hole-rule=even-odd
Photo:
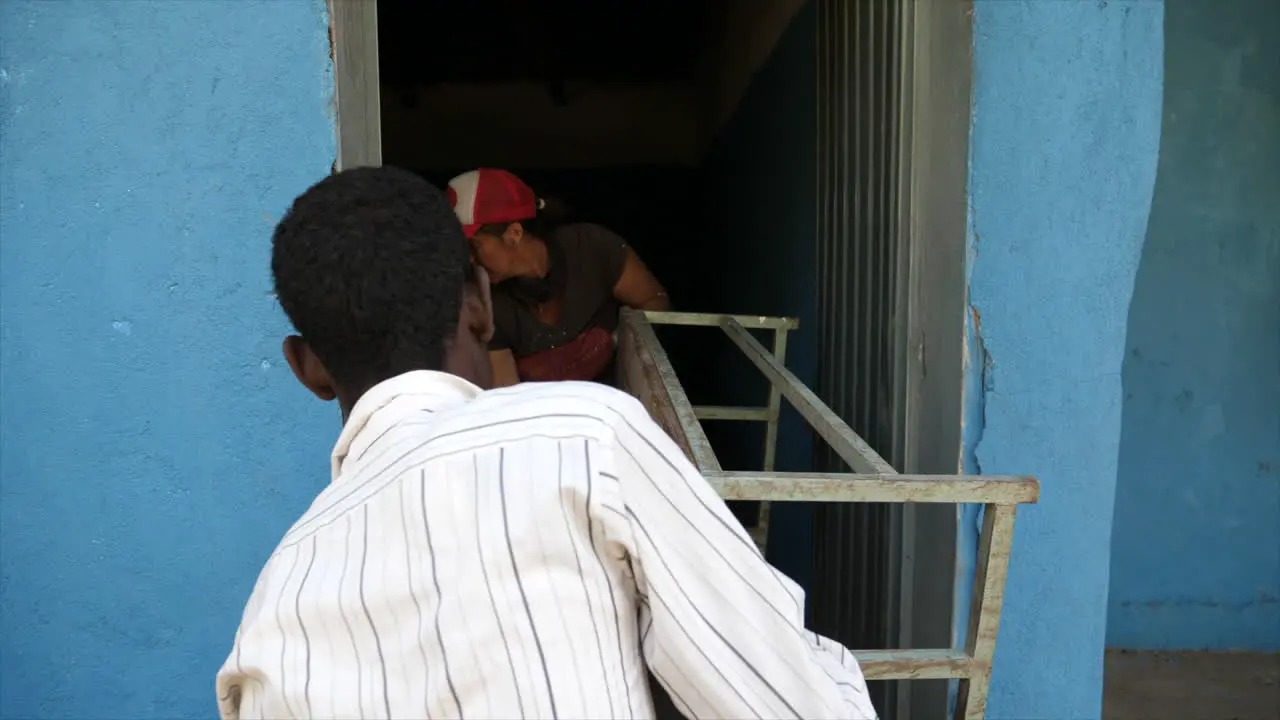
[{"label": "dark shadowed blue wall inside the room beside the corrugated shutter", "polygon": [[[701,250],[709,259],[703,266],[703,307],[800,318],[800,329],[787,338],[787,366],[809,386],[818,363],[814,5],[806,4],[791,20],[704,159],[703,242],[712,250]],[[764,377],[717,336],[723,333],[712,333],[703,346],[716,374],[705,398],[694,400],[764,405]],[[762,340],[767,347],[772,342]],[[808,425],[787,402],[782,406],[777,468],[812,469]],[[760,468],[763,425],[708,423],[707,429],[726,468]],[[812,520],[808,503],[774,503],[768,538],[769,560],[805,588],[813,574]]]}]

